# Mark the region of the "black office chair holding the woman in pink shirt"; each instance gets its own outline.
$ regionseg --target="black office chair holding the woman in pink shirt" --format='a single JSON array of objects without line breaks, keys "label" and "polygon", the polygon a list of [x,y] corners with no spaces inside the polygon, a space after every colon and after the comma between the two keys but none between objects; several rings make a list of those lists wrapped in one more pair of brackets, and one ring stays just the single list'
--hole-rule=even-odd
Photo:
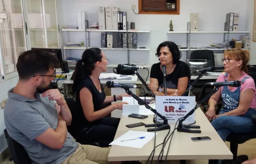
[{"label": "black office chair holding the woman in pink shirt", "polygon": [[[253,78],[254,82],[256,82],[256,72],[249,72],[248,75]],[[207,107],[207,106],[205,106],[205,107]],[[205,107],[204,107],[204,111],[205,111]],[[220,109],[221,109],[221,107],[219,108],[219,105],[218,105],[216,114],[219,114]],[[256,114],[253,115],[252,121],[253,121],[253,124],[256,129]],[[239,134],[231,133],[226,138],[226,141],[230,142],[230,151],[233,153],[233,160],[222,160],[222,164],[242,163],[243,161],[248,160],[247,155],[237,156],[237,148],[238,148],[238,144],[244,143],[247,140],[250,140],[253,138],[256,138],[256,130],[253,132],[250,132],[250,133],[239,133]]]}]

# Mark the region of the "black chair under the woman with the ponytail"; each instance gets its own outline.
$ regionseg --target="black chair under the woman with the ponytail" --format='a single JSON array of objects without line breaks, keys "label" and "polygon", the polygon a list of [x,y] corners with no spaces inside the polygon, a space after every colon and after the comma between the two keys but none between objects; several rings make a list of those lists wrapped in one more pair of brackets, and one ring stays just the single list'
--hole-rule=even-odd
[{"label": "black chair under the woman with the ponytail", "polygon": [[[70,109],[71,115],[72,117],[76,114],[75,110],[76,110],[76,101],[73,98],[65,98],[68,108]],[[75,118],[75,117],[73,117]],[[71,125],[67,126],[67,130],[68,132],[76,139],[77,142],[81,143],[82,145],[93,145],[93,146],[99,146],[99,147],[109,147],[109,143],[111,141],[87,141],[84,140],[83,138],[75,135],[76,130],[78,126],[76,126],[76,124],[74,123],[73,119],[71,122]],[[79,129],[80,130],[80,129]],[[82,131],[86,132],[89,131],[90,128],[84,128]]]}]

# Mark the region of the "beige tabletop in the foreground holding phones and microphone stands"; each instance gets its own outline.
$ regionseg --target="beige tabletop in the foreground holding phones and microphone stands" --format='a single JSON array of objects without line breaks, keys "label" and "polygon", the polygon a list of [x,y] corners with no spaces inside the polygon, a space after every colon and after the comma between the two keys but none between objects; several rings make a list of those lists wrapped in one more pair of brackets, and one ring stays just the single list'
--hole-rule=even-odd
[{"label": "beige tabletop in the foreground holding phones and microphone stands", "polygon": [[[144,120],[139,120],[135,118],[130,118],[127,115],[122,115],[121,121],[119,123],[118,129],[115,134],[115,139],[123,135],[129,130],[133,131],[147,131],[147,128],[144,126],[127,128],[125,125],[143,122],[153,123],[153,115],[149,115],[148,118]],[[211,126],[210,122],[204,116],[203,112],[199,109],[196,110],[196,125],[201,126],[202,133],[182,133],[174,132],[170,144],[170,150],[167,156],[167,160],[194,160],[194,159],[232,159],[233,154],[229,148],[222,141],[220,136],[216,133],[214,128]],[[171,125],[171,131],[174,129],[174,124]],[[156,145],[159,145],[163,142],[164,137],[166,136],[168,130],[158,131],[156,135]],[[194,142],[191,140],[191,137],[202,137],[209,136],[211,141],[199,141]],[[167,143],[164,148],[164,157],[168,149]],[[141,149],[131,148],[131,147],[122,147],[122,146],[111,146],[111,150],[108,156],[108,161],[143,161],[147,160],[149,154],[154,148],[154,138],[151,139],[145,146]],[[159,146],[156,149],[154,160],[157,160],[162,146]]]}]

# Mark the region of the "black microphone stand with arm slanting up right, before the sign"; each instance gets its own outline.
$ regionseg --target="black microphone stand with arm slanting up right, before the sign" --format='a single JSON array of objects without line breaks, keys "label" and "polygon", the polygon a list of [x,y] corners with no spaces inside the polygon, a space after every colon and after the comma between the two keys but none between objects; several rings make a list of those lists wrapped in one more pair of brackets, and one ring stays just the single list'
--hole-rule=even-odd
[{"label": "black microphone stand with arm slanting up right, before the sign", "polygon": [[210,98],[215,92],[219,90],[220,86],[215,86],[215,88],[207,95],[205,96],[199,103],[194,107],[188,114],[186,114],[183,118],[179,120],[179,125],[177,127],[178,132],[186,132],[186,133],[201,133],[201,130],[191,130],[189,128],[196,128],[200,129],[200,126],[194,126],[194,125],[183,125],[182,122],[186,120],[204,101],[206,101],[208,98]]}]

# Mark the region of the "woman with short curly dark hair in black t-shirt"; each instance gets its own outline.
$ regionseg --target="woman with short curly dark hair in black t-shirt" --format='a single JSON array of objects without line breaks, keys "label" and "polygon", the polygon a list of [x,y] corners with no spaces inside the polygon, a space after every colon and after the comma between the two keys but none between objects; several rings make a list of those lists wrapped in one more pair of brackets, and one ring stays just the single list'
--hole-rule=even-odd
[{"label": "woman with short curly dark hair in black t-shirt", "polygon": [[181,96],[188,87],[190,68],[185,62],[179,61],[181,53],[178,46],[174,42],[163,42],[157,47],[156,56],[160,62],[151,67],[149,88],[155,95],[165,95],[162,70],[165,65],[167,95]]}]

